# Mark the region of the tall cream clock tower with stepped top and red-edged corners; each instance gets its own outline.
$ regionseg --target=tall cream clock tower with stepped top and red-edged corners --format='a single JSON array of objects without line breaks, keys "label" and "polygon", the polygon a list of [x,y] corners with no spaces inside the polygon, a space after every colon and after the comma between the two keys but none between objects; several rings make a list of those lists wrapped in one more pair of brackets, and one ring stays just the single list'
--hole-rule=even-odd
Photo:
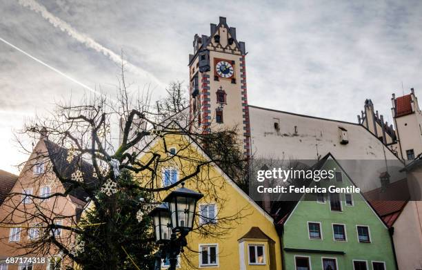
[{"label": "tall cream clock tower with stepped top and red-edged corners", "polygon": [[250,125],[246,88],[245,43],[225,17],[211,23],[210,36],[195,35],[189,55],[190,119],[203,133],[236,128],[250,155]]}]

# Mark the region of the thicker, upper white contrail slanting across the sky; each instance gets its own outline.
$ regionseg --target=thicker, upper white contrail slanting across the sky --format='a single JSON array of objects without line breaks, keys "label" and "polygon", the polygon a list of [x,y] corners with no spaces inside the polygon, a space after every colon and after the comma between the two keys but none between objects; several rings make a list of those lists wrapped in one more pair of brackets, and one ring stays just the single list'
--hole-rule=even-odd
[{"label": "thicker, upper white contrail slanting across the sky", "polygon": [[97,41],[94,41],[94,39],[74,29],[72,26],[70,26],[69,23],[66,23],[66,21],[62,21],[60,18],[52,15],[52,13],[50,13],[45,6],[42,6],[41,4],[37,3],[37,1],[19,0],[19,4],[23,7],[30,8],[30,10],[33,10],[34,12],[39,13],[44,19],[50,22],[54,27],[59,28],[63,32],[66,32],[68,35],[70,35],[70,37],[73,37],[74,39],[81,42],[82,44],[85,44],[86,47],[102,53],[103,55],[108,57],[110,60],[114,61],[114,63],[119,64],[119,65],[123,63],[125,65],[125,68],[127,68],[130,72],[136,75],[145,76],[147,77],[147,79],[154,81],[154,83],[158,84],[159,86],[163,85],[161,81],[159,81],[159,79],[157,79],[154,75],[152,75],[146,70],[143,70],[142,68],[139,68],[138,66],[134,66],[134,64],[130,64],[128,61],[121,59],[121,56],[118,55],[117,53],[102,46]]}]

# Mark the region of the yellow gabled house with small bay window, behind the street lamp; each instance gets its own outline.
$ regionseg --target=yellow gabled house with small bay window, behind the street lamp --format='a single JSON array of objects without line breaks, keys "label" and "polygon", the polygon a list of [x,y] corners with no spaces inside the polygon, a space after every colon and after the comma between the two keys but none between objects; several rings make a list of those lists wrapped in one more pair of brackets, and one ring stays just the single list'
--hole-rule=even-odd
[{"label": "yellow gabled house with small bay window, behind the street lamp", "polygon": [[[154,188],[183,180],[196,171],[198,164],[204,164],[197,175],[185,181],[185,187],[204,197],[198,202],[197,220],[187,237],[180,269],[281,269],[279,235],[270,215],[214,162],[207,163],[210,158],[192,138],[164,135],[143,152],[141,162],[150,160],[152,153],[159,154],[161,161],[168,160],[159,163],[161,173],[157,177],[141,175]],[[167,193],[159,194],[157,201]]]}]

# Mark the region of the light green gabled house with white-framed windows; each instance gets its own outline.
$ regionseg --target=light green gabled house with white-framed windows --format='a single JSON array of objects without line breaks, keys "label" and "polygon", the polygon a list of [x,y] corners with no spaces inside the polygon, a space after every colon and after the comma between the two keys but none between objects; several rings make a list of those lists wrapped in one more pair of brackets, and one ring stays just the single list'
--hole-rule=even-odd
[{"label": "light green gabled house with white-framed windows", "polygon": [[[334,168],[331,180],[309,187],[356,186],[331,154],[314,166]],[[279,207],[283,269],[397,269],[390,231],[361,193],[308,193]]]}]

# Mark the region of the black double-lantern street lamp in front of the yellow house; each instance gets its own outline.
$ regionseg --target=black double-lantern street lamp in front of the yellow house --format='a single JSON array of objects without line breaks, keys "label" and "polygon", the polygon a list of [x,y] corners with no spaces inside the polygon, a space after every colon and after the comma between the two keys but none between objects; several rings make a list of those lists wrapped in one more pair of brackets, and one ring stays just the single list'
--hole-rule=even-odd
[{"label": "black double-lantern street lamp in front of the yellow house", "polygon": [[163,204],[149,214],[154,220],[155,240],[160,244],[155,269],[161,268],[161,258],[170,261],[169,270],[176,269],[177,256],[188,242],[186,235],[192,231],[197,202],[203,194],[182,187],[172,191]]}]

